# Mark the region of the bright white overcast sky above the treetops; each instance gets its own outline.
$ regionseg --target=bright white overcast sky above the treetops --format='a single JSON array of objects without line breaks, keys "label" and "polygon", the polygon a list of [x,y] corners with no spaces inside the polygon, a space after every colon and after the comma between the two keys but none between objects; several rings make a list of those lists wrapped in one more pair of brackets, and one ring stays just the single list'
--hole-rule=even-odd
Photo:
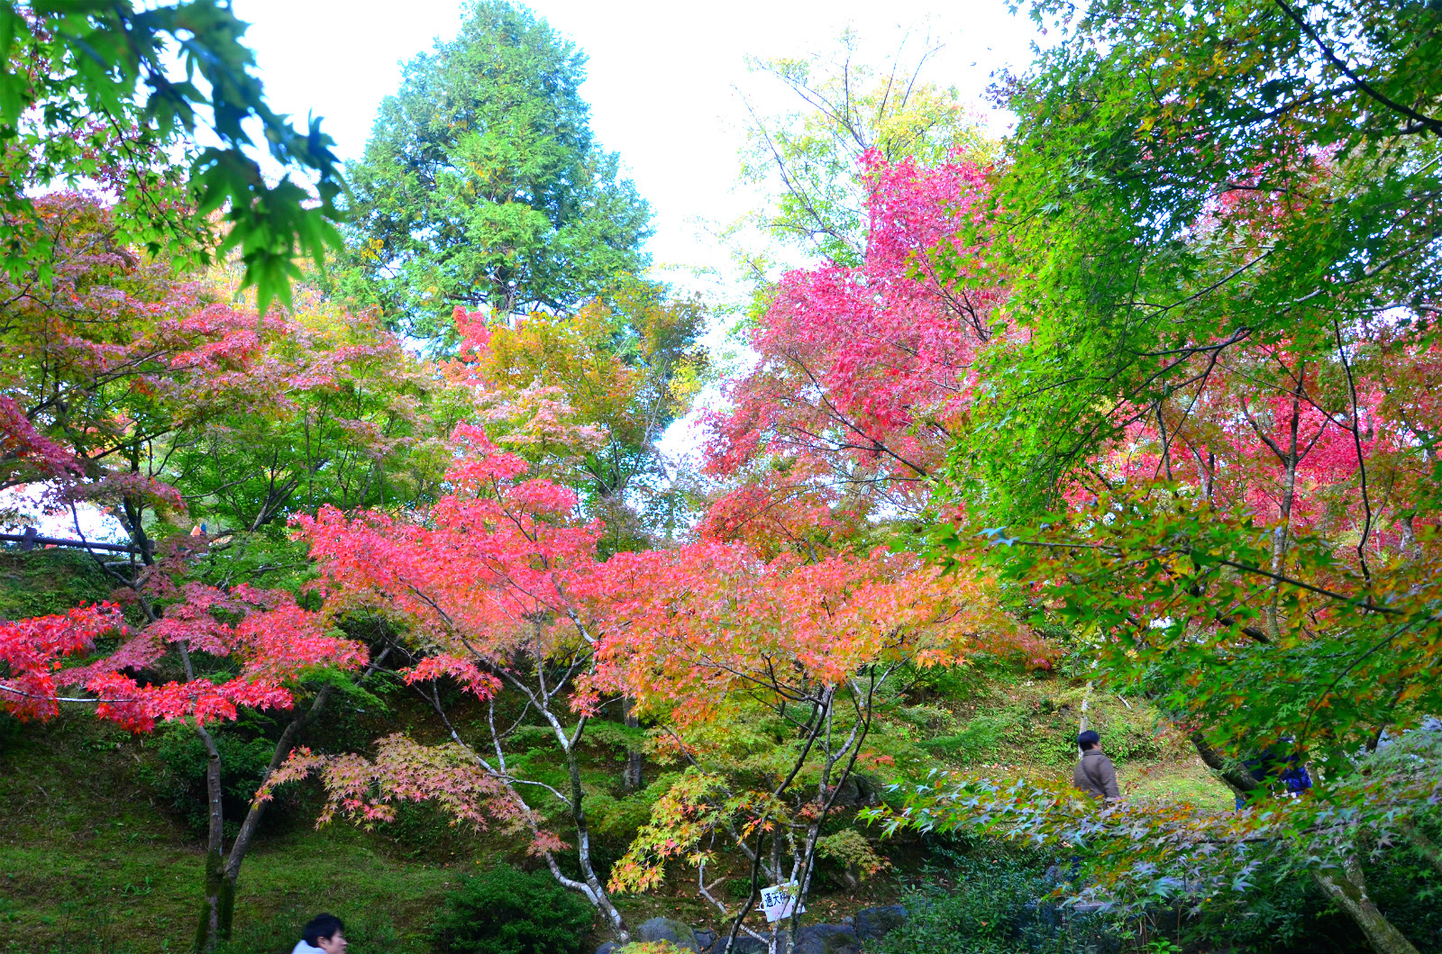
[{"label": "bright white overcast sky above the treetops", "polygon": [[[235,0],[252,26],[271,105],[304,120],[324,117],[339,153],[359,157],[381,98],[395,92],[401,61],[450,39],[459,0]],[[747,73],[746,55],[800,56],[825,50],[845,27],[880,62],[903,36],[920,49],[945,42],[927,76],[956,85],[981,107],[992,71],[1030,59],[1030,20],[1005,0],[633,3],[539,0],[531,4],[590,56],[583,94],[598,141],[620,153],[655,210],[650,252],[658,265],[724,268],[724,252],[698,220],[728,222],[747,206],[733,192],[740,99],[790,108],[783,91]],[[769,98],[770,97],[770,98]]]}]

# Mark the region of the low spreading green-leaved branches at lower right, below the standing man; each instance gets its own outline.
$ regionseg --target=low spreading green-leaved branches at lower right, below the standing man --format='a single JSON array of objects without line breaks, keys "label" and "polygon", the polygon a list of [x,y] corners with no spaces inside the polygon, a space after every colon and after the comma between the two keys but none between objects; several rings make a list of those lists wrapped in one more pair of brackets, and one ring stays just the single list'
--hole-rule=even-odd
[{"label": "low spreading green-leaved branches at lower right, below the standing man", "polygon": [[898,808],[864,814],[887,833],[956,832],[1064,849],[1086,875],[1077,899],[1119,911],[1181,902],[1195,915],[1213,896],[1265,889],[1263,876],[1302,875],[1357,921],[1376,950],[1416,951],[1368,896],[1361,863],[1399,846],[1435,847],[1417,826],[1442,819],[1442,729],[1407,732],[1357,757],[1353,768],[1344,781],[1299,797],[1262,794],[1221,813],[1164,801],[1099,807],[1061,785],[933,774],[924,784],[895,787]]}]

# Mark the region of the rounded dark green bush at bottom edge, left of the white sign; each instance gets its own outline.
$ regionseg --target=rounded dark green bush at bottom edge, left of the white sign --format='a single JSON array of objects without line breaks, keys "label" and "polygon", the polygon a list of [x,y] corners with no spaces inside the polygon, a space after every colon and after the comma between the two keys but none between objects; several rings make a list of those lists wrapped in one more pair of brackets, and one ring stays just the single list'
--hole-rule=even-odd
[{"label": "rounded dark green bush at bottom edge, left of the white sign", "polygon": [[446,895],[431,941],[444,954],[580,954],[591,915],[549,873],[500,865]]}]

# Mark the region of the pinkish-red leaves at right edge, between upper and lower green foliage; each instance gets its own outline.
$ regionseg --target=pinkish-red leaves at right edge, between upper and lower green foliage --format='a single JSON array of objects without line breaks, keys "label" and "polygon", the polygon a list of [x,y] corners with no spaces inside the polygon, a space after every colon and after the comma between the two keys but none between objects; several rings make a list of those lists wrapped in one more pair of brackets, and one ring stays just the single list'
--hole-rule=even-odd
[{"label": "pinkish-red leaves at right edge, between upper and lower green foliage", "polygon": [[[1169,480],[1291,533],[1357,539],[1366,529],[1368,548],[1406,549],[1416,523],[1429,522],[1415,516],[1430,470],[1417,448],[1442,414],[1425,383],[1442,373],[1442,347],[1399,346],[1387,329],[1363,327],[1357,339],[1351,386],[1344,369],[1286,342],[1236,346],[1159,415],[1119,408],[1131,422],[1093,461],[1094,474]],[[1099,489],[1083,473],[1069,497]]]}]

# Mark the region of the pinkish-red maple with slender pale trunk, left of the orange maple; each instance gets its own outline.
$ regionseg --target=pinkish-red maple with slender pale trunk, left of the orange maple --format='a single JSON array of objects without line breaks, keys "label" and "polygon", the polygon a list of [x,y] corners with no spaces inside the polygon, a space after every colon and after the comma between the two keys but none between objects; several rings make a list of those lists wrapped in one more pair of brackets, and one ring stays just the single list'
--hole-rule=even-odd
[{"label": "pinkish-red maple with slender pale trunk, left of the orange maple", "polygon": [[[329,793],[322,821],[342,813],[371,823],[394,817],[398,800],[437,800],[466,823],[499,823],[528,836],[528,850],[624,940],[622,915],[591,860],[581,745],[596,710],[571,700],[574,680],[597,666],[600,634],[577,585],[597,565],[600,527],[580,517],[572,490],[531,477],[528,464],[500,451],[483,428],[459,425],[454,440],[461,457],[447,473],[451,490],[430,509],[348,519],[324,507],[300,519],[330,589],[327,608],[363,608],[404,633],[412,664],[402,674],[450,742],[425,746],[398,734],[378,744],[373,759],[297,751],[260,797],[320,771]],[[457,728],[435,687],[443,677],[485,708],[479,741]],[[534,734],[518,731],[534,723],[559,751],[565,781],[558,785],[523,757]],[[552,832],[555,813],[571,829],[571,844]],[[561,868],[567,849],[578,878]]]}]

